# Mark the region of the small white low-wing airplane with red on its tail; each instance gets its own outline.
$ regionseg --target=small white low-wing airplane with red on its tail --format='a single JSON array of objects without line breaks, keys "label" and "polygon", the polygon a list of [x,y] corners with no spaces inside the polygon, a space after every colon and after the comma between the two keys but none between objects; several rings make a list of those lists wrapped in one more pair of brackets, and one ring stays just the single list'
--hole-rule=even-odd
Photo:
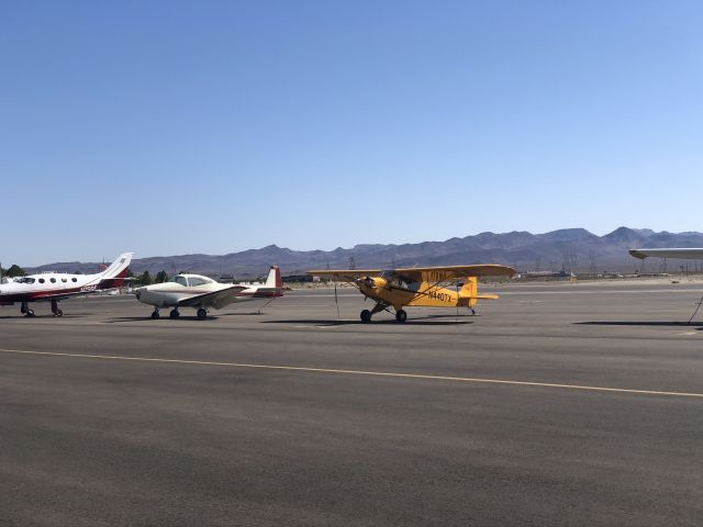
[{"label": "small white low-wing airplane with red on its tail", "polygon": [[171,318],[180,316],[179,307],[193,307],[198,318],[208,316],[208,310],[221,310],[234,302],[275,299],[283,295],[281,270],[271,266],[263,285],[219,283],[200,274],[177,274],[168,282],[145,285],[136,290],[136,300],[154,306],[152,318],[159,318],[159,307],[172,307]]}]

